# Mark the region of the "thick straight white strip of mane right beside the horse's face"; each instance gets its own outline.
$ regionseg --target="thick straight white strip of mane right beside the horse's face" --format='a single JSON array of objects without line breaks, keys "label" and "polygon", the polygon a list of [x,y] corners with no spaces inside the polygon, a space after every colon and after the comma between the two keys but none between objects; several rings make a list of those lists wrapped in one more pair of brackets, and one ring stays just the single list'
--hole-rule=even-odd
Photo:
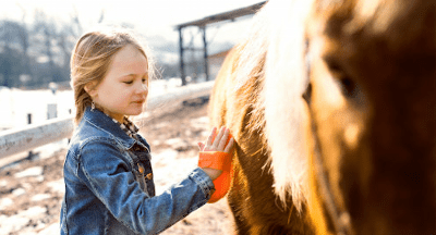
[{"label": "thick straight white strip of mane right beside the horse's face", "polygon": [[303,94],[308,84],[305,21],[313,0],[287,1],[284,4],[280,0],[268,3],[271,29],[263,96],[276,194],[283,202],[290,194],[301,212],[302,205],[308,199],[307,136],[304,136],[308,116]]}]

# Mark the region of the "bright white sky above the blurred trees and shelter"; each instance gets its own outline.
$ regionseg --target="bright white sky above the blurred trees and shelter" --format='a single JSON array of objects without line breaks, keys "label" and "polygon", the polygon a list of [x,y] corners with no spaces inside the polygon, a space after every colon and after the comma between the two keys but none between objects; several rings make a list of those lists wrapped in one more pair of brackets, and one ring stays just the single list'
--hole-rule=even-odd
[{"label": "bright white sky above the blurred trees and shelter", "polygon": [[[40,10],[55,21],[69,22],[77,12],[86,30],[86,27],[96,25],[104,11],[106,24],[129,23],[146,38],[161,37],[162,41],[177,46],[179,34],[175,25],[258,2],[262,0],[3,0],[0,20],[21,21],[23,12],[26,12],[24,20],[31,22],[35,10]],[[245,18],[232,24],[211,25],[207,29],[208,40],[217,44],[238,41],[243,32],[241,29],[246,28],[244,25],[249,23],[250,20]],[[187,35],[198,34],[196,28],[190,30]]]}]

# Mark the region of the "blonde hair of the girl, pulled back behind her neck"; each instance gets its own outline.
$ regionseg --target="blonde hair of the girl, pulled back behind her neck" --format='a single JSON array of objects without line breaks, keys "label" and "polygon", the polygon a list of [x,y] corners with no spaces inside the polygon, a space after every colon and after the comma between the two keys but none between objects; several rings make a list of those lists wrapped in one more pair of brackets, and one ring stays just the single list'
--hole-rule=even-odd
[{"label": "blonde hair of the girl, pulled back behind her neck", "polygon": [[86,107],[92,104],[92,98],[85,91],[85,86],[92,82],[98,86],[106,76],[114,54],[128,45],[134,46],[147,59],[148,76],[153,78],[155,66],[146,53],[148,48],[140,44],[132,32],[100,29],[86,33],[77,40],[70,61],[76,125],[81,122]]}]

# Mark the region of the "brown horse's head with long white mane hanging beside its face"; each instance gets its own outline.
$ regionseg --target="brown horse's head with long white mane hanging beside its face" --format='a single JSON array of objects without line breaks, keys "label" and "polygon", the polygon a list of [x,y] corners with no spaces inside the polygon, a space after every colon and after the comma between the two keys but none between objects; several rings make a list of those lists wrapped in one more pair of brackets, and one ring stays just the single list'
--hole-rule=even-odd
[{"label": "brown horse's head with long white mane hanging beside its face", "polygon": [[282,4],[265,7],[277,194],[320,233],[435,233],[436,1]]}]

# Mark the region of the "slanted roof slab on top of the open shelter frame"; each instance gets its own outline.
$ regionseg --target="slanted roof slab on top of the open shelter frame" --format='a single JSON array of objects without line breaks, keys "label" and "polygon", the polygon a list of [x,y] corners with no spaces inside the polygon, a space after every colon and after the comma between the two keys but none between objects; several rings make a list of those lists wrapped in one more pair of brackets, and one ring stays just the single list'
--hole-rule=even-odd
[{"label": "slanted roof slab on top of the open shelter frame", "polygon": [[263,1],[263,2],[253,4],[253,5],[249,5],[249,7],[245,7],[245,8],[240,8],[240,9],[237,9],[237,10],[232,10],[232,11],[228,11],[228,12],[210,15],[210,16],[207,16],[207,17],[204,17],[204,18],[201,18],[201,20],[196,20],[196,21],[179,24],[179,25],[175,26],[175,29],[180,29],[180,28],[187,27],[187,26],[202,27],[202,26],[205,26],[205,25],[208,25],[208,24],[211,24],[211,23],[234,20],[237,17],[241,17],[241,16],[244,16],[244,15],[254,14],[265,3],[266,3],[266,1]]}]

